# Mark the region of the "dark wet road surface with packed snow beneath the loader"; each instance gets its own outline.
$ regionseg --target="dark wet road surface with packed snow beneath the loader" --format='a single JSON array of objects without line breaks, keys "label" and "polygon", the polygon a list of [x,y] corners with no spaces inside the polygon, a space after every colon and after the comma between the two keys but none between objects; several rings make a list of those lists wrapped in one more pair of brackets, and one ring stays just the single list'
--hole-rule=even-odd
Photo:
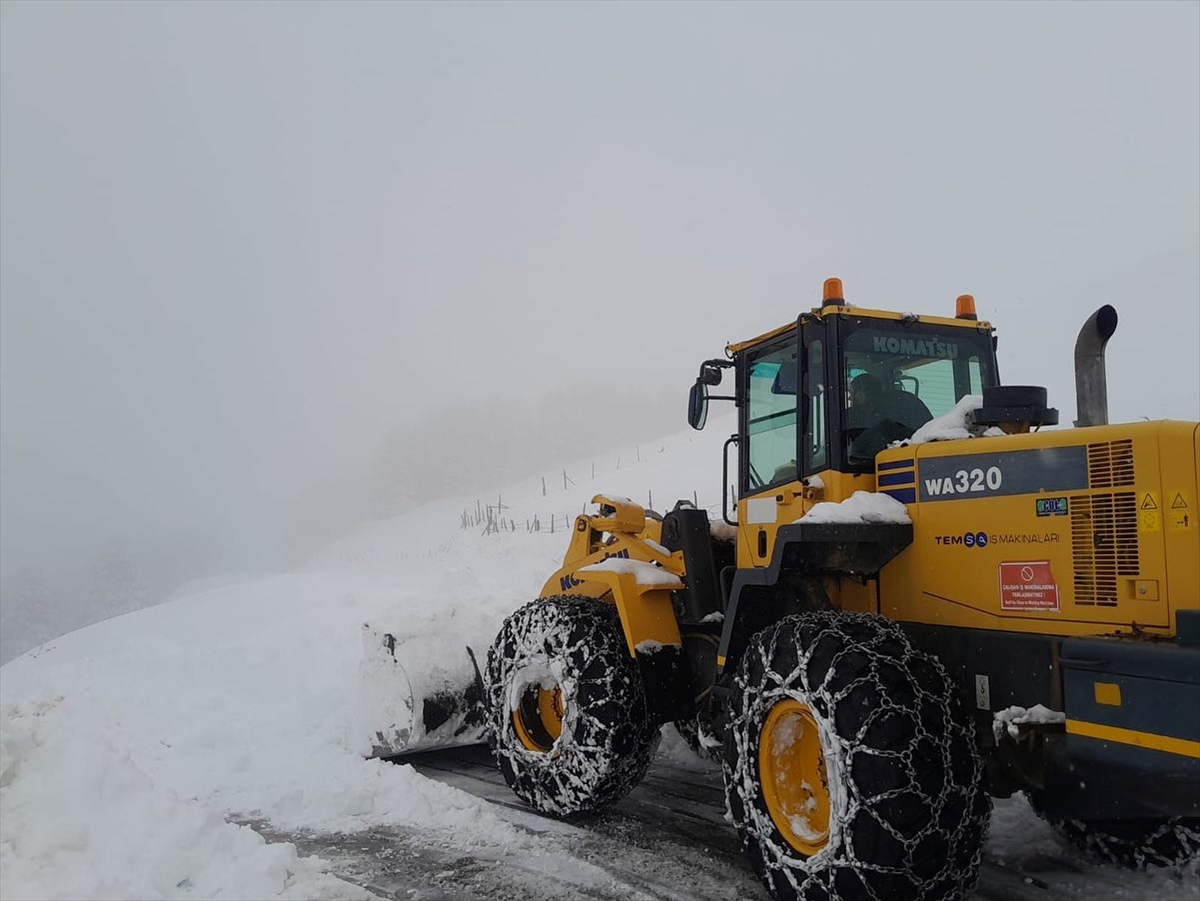
[{"label": "dark wet road surface with packed snow beneath the loader", "polygon": [[[668,739],[670,744],[670,739]],[[485,747],[412,755],[397,765],[491,803],[528,845],[461,847],[452,837],[404,828],[356,835],[280,834],[332,872],[385,899],[612,899],[767,901],[732,827],[721,774],[667,746],[634,792],[604,813],[557,821],[526,807]],[[1126,871],[1067,848],[1021,798],[996,803],[995,825],[971,901],[1194,900],[1194,872]]]}]

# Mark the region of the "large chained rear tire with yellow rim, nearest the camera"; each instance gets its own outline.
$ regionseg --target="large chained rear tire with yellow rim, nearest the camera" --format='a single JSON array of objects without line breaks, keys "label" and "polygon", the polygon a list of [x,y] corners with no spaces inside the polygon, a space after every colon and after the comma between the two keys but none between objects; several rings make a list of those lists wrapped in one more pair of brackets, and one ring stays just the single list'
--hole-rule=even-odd
[{"label": "large chained rear tire with yellow rim, nearest the camera", "polygon": [[776,899],[971,891],[991,799],[958,708],[941,663],[878,617],[806,613],[751,639],[731,699],[726,799]]}]

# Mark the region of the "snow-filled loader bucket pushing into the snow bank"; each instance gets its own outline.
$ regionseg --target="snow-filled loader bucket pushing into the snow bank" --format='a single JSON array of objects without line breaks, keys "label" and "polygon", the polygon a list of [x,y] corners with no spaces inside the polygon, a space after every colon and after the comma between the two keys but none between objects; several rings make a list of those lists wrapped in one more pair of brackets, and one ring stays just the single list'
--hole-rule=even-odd
[{"label": "snow-filled loader bucket pushing into the snow bank", "polygon": [[[428,648],[397,642],[390,632],[362,626],[355,732],[367,757],[481,744],[482,686],[474,651],[431,660]],[[409,659],[418,661],[406,668]]]}]

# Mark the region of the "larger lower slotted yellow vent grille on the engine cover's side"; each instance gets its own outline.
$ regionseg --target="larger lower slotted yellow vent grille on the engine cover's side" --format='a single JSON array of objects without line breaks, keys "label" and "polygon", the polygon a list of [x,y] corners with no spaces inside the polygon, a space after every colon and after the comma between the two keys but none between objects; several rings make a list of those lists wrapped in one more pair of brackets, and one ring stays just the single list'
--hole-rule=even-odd
[{"label": "larger lower slotted yellow vent grille on the engine cover's side", "polygon": [[[1132,469],[1130,464],[1130,475]],[[1073,497],[1070,547],[1075,603],[1115,607],[1117,577],[1139,573],[1138,495],[1120,492]]]}]

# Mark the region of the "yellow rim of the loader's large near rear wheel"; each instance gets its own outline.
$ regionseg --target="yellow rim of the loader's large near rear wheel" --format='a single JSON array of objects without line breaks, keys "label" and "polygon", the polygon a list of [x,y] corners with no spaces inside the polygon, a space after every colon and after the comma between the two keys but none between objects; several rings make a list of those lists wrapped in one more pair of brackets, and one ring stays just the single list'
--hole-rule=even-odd
[{"label": "yellow rim of the loader's large near rear wheel", "polygon": [[767,811],[805,857],[829,841],[829,780],[812,711],[786,698],[767,714],[758,741],[758,779]]}]

